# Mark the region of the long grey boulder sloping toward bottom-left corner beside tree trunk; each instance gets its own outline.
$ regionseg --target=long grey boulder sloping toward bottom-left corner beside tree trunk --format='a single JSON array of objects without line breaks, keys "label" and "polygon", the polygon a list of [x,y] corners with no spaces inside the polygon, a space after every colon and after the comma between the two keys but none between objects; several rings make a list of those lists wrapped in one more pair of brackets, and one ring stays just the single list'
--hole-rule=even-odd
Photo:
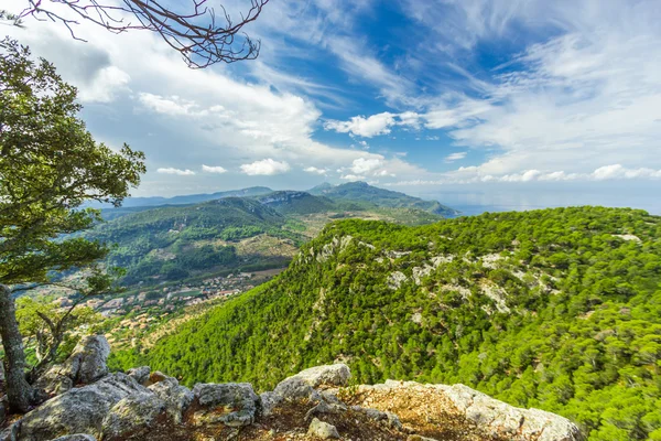
[{"label": "long grey boulder sloping toward bottom-left corner beside tree trunk", "polygon": [[29,412],[21,420],[20,441],[45,441],[71,433],[99,434],[104,417],[121,399],[149,390],[124,374],[72,389]]}]

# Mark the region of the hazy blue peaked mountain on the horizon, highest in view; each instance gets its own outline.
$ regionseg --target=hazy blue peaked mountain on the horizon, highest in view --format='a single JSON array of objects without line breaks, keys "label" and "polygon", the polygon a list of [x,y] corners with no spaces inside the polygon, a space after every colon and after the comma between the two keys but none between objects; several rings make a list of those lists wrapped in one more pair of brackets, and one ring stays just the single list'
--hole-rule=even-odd
[{"label": "hazy blue peaked mountain on the horizon, highest in view", "polygon": [[459,214],[456,209],[437,201],[424,201],[404,193],[379,189],[366,182],[349,182],[336,186],[324,183],[311,189],[308,192],[313,195],[326,196],[333,201],[367,202],[380,207],[392,208],[419,208],[442,216]]}]

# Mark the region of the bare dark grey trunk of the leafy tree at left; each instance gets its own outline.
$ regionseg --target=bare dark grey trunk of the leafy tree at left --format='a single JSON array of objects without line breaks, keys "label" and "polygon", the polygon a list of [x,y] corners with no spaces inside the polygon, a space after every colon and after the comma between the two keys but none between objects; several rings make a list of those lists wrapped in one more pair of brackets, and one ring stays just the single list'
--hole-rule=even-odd
[{"label": "bare dark grey trunk of the leafy tree at left", "polygon": [[25,353],[19,332],[11,291],[0,283],[0,336],[4,347],[4,377],[9,407],[13,411],[30,410],[34,391],[25,379]]}]

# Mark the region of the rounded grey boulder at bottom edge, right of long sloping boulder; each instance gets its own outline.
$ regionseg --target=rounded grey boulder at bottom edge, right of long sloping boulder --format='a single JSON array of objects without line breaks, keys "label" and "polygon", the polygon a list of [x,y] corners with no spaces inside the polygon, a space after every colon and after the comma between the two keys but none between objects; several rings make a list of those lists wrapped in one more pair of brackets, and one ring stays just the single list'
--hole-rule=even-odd
[{"label": "rounded grey boulder at bottom edge, right of long sloping boulder", "polygon": [[165,401],[153,392],[122,398],[104,418],[104,441],[122,440],[127,434],[141,435],[165,412]]}]

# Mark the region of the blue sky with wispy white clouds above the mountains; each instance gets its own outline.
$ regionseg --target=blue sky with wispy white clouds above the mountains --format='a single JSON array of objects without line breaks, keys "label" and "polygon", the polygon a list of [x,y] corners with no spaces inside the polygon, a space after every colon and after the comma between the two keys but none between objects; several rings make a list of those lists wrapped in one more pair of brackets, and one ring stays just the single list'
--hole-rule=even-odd
[{"label": "blue sky with wispy white clouds above the mountains", "polygon": [[658,0],[271,0],[258,60],[198,71],[149,32],[2,31],[78,87],[98,141],[145,152],[134,195],[359,180],[661,214],[659,22]]}]

